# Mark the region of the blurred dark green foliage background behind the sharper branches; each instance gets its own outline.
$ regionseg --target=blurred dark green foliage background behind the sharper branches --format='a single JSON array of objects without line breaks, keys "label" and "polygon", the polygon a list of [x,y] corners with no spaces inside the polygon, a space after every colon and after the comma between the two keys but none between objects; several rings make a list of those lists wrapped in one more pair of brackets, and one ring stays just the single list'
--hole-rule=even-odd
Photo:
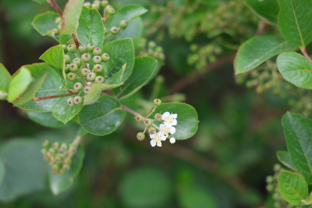
[{"label": "blurred dark green foliage background behind the sharper branches", "polygon": [[[66,3],[56,2],[61,8]],[[235,51],[259,32],[259,19],[242,1],[234,0],[110,1],[116,10],[129,3],[149,9],[142,16],[146,39],[135,40],[136,55],[144,52],[140,43],[152,40],[163,47],[165,62],[160,76],[123,104],[139,112],[151,109],[155,97],[191,104],[200,121],[197,133],[174,145],[152,148],[148,139],[136,139],[142,127],[129,114],[114,133],[83,138],[83,167],[67,191],[53,196],[47,182],[0,206],[272,206],[266,176],[274,173],[276,150],[286,149],[280,118],[291,105],[276,89],[238,79],[233,70]],[[22,65],[40,62],[38,57],[57,44],[31,25],[38,13],[49,10],[47,3],[31,0],[0,1],[0,62],[11,74]],[[44,127],[4,101],[0,115],[1,146],[15,138],[73,139],[77,130],[71,123]]]}]

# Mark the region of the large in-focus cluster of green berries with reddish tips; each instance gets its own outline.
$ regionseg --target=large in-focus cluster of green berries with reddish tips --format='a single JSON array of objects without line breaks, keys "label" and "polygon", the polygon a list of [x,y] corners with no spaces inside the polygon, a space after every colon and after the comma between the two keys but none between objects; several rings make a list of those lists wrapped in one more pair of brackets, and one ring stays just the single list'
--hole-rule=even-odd
[{"label": "large in-focus cluster of green berries with reddish tips", "polygon": [[[75,54],[77,56],[77,49],[74,44],[68,46],[63,45],[65,52],[65,73],[67,74],[67,79],[69,81],[74,81],[80,79],[81,82],[76,82],[74,84],[74,90],[79,94],[81,91],[84,94],[88,94],[90,91],[90,86],[93,83],[103,83],[105,80],[105,70],[101,65],[102,62],[107,62],[110,60],[110,55],[107,53],[102,53],[100,48],[95,48],[93,43],[85,45],[80,45],[78,47],[78,53],[80,58],[71,59],[68,53]],[[89,69],[89,62],[92,59],[93,68]],[[71,97],[67,100],[67,104],[72,106],[73,104],[82,104],[83,97],[77,95]]]}]

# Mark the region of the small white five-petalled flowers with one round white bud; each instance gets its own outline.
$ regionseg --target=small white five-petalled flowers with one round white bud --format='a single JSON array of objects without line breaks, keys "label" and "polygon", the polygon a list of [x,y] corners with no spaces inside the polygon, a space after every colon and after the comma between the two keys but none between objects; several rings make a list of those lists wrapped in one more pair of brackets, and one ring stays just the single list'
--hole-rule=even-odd
[{"label": "small white five-petalled flowers with one round white bud", "polygon": [[[178,114],[170,114],[169,112],[163,113],[163,123],[159,125],[160,131],[149,135],[152,147],[155,147],[156,145],[161,147],[161,141],[165,141],[168,138],[169,133],[175,133],[176,129],[173,126],[177,125],[177,117]],[[175,143],[175,138],[171,137],[169,141],[173,144]]]}]

